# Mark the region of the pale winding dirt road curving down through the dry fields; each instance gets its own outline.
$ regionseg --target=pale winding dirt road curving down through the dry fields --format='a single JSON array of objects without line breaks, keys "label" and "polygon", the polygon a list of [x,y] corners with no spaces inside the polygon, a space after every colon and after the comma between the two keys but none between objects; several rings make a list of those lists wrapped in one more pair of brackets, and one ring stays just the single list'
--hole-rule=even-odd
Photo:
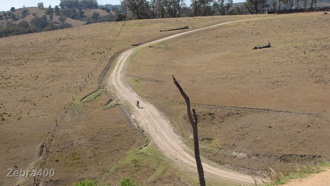
[{"label": "pale winding dirt road curving down through the dry fields", "polygon": [[[190,156],[187,152],[184,151],[186,145],[182,143],[180,137],[173,131],[173,128],[169,122],[169,120],[160,113],[152,104],[148,101],[143,100],[140,96],[138,96],[128,85],[125,83],[124,73],[122,71],[125,67],[125,61],[129,55],[134,53],[136,50],[141,49],[142,47],[146,47],[150,44],[157,43],[160,41],[164,41],[167,39],[175,38],[178,36],[182,36],[184,34],[188,34],[191,32],[195,32],[198,30],[211,28],[223,24],[228,24],[230,22],[225,22],[221,24],[216,24],[213,26],[208,26],[196,30],[191,30],[188,32],[182,32],[176,35],[172,35],[169,37],[165,37],[156,41],[152,41],[141,45],[139,47],[127,50],[123,52],[118,57],[118,63],[109,78],[109,86],[114,86],[117,96],[121,101],[128,101],[131,105],[134,106],[134,119],[138,121],[139,125],[142,126],[147,132],[149,132],[150,136],[154,140],[155,144],[163,151],[163,153],[171,158],[174,161],[179,161],[183,165],[189,165],[190,167],[196,167],[195,159]],[[173,84],[174,86],[174,84]],[[179,94],[179,92],[178,92]],[[135,106],[136,100],[140,101],[140,106],[143,108],[137,108]],[[206,163],[203,163],[204,171],[208,173],[212,173],[217,177],[224,177],[231,180],[236,180],[245,183],[254,183],[251,176],[240,174],[238,172],[234,172],[231,170],[221,170],[215,167],[212,167]]]}]

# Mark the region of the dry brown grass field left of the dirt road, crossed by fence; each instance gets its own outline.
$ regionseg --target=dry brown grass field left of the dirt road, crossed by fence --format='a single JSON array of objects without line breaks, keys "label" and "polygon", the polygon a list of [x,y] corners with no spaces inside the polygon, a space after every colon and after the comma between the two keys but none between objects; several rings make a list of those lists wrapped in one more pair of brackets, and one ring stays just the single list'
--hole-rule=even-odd
[{"label": "dry brown grass field left of the dirt road, crossed by fence", "polygon": [[[148,140],[127,120],[120,106],[101,109],[109,99],[116,98],[111,92],[103,93],[92,102],[79,100],[99,87],[98,76],[116,52],[182,32],[159,32],[160,29],[192,25],[191,30],[245,18],[190,18],[189,21],[182,18],[177,22],[165,19],[165,24],[163,19],[152,20],[152,24],[151,20],[129,21],[114,44],[112,41],[122,23],[1,38],[0,166],[5,168],[0,174],[5,177],[7,168],[39,169],[41,160],[43,168],[57,170],[54,178],[38,178],[45,185],[71,185],[93,177],[116,185],[119,179],[131,175],[146,185],[196,184],[195,174],[177,170],[152,144],[140,149]],[[100,59],[102,64],[98,64]],[[59,126],[53,129],[55,119]],[[48,152],[42,145],[47,145]],[[145,153],[137,156],[136,151]],[[0,185],[32,182],[31,177],[4,178]]]}]

